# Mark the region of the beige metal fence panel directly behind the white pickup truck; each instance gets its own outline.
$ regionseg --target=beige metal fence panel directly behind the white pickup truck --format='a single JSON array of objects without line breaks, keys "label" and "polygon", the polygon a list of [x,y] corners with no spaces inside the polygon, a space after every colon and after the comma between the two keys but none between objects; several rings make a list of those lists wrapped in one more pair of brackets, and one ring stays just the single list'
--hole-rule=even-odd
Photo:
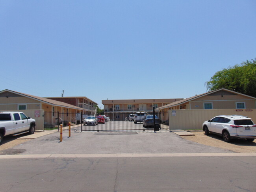
[{"label": "beige metal fence panel directly behind the white pickup truck", "polygon": [[[35,130],[44,129],[44,117],[43,117],[44,110],[11,110],[11,111],[20,111],[26,114],[26,116],[31,117],[32,119],[35,119]],[[37,114],[39,114],[39,116],[37,116]]]}]

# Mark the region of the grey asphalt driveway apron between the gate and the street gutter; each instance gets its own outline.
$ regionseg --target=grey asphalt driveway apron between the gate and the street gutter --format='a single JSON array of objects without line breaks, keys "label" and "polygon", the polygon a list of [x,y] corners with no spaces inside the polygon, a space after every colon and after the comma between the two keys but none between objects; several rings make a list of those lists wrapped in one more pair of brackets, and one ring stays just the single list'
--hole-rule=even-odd
[{"label": "grey asphalt driveway apron between the gate and the street gutter", "polygon": [[233,153],[185,140],[171,133],[60,133],[26,141],[6,154],[114,154],[114,153]]}]

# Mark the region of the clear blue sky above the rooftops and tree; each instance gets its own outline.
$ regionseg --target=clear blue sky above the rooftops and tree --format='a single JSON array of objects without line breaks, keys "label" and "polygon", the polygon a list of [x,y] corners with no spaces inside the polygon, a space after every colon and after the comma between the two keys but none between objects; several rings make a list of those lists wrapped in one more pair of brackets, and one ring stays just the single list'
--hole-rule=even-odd
[{"label": "clear blue sky above the rooftops and tree", "polygon": [[255,0],[0,0],[0,90],[188,98],[256,57]]}]

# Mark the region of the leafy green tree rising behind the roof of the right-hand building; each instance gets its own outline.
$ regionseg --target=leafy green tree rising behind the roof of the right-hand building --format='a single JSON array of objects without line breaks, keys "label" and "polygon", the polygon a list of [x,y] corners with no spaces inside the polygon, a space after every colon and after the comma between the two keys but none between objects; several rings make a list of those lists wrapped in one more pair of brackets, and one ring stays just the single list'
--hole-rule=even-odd
[{"label": "leafy green tree rising behind the roof of the right-hand building", "polygon": [[216,72],[206,85],[207,90],[225,88],[256,97],[256,58]]}]

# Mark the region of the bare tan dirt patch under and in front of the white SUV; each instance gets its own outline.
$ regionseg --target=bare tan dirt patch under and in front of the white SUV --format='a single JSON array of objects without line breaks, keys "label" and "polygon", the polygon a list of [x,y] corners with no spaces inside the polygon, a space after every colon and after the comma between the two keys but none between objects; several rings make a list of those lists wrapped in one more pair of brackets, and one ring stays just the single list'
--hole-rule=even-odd
[{"label": "bare tan dirt patch under and in front of the white SUV", "polygon": [[256,153],[256,141],[248,142],[247,140],[232,140],[227,143],[218,135],[204,135],[204,131],[190,131],[195,136],[181,136],[184,139],[197,142],[200,144],[217,147],[225,150],[234,151],[237,153]]}]

